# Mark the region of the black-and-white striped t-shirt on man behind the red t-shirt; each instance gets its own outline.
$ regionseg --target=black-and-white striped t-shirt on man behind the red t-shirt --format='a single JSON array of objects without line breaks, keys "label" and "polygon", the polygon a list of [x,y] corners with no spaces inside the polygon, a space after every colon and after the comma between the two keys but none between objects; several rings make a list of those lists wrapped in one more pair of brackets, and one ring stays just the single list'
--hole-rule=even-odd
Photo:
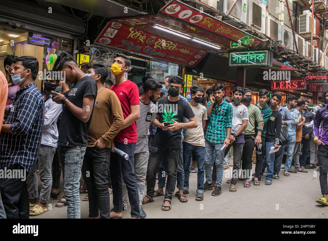
[{"label": "black-and-white striped t-shirt on man behind the red t-shirt", "polygon": [[148,135],[150,122],[155,120],[157,113],[157,106],[150,102],[149,104],[140,103],[140,118],[136,120],[137,123],[137,142],[135,144],[134,153],[148,151]]}]

